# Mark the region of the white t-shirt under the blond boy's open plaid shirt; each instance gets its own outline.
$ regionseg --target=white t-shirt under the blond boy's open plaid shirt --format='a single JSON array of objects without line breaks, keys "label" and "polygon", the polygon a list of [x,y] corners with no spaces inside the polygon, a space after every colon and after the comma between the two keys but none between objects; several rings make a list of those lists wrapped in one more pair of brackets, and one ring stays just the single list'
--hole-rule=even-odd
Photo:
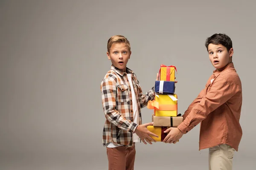
[{"label": "white t-shirt under the blond boy's open plaid shirt", "polygon": [[[132,84],[132,80],[131,80],[131,74],[127,74],[128,76],[128,81],[131,87],[131,97],[132,97],[132,109],[133,109],[133,113],[134,113],[134,123],[136,123],[137,125],[139,125],[139,111],[138,111],[138,105],[137,105],[137,99],[136,99],[136,95],[134,92],[134,88],[133,88],[133,84]],[[140,137],[136,134],[133,133],[133,142],[140,142]],[[122,146],[121,144],[114,144],[114,143],[110,143],[108,144],[107,147],[118,147],[118,146]]]}]

